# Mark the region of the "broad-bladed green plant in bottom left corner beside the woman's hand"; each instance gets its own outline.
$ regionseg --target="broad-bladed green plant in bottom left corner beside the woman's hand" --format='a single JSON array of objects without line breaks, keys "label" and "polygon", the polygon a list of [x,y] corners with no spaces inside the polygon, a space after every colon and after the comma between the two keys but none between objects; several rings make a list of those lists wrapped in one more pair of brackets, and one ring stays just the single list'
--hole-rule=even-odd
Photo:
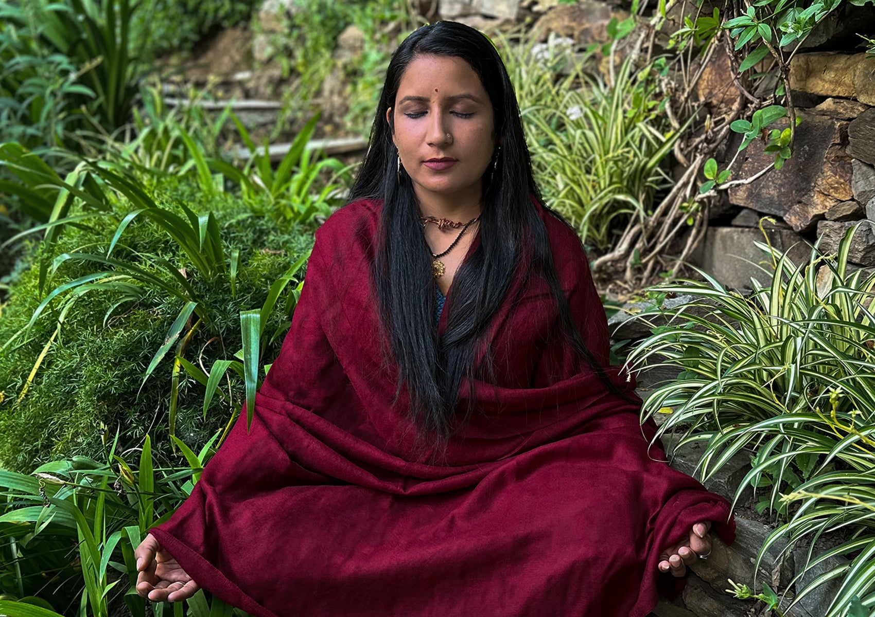
[{"label": "broad-bladed green plant in bottom left corner beside the woman's hand", "polygon": [[[87,457],[52,461],[31,475],[0,469],[0,495],[7,500],[0,506],[0,592],[5,594],[0,611],[58,617],[61,604],[75,603],[76,614],[87,614],[88,607],[88,614],[101,617],[122,600],[131,615],[144,617],[147,601],[135,589],[134,550],[151,527],[165,521],[191,494],[218,447],[218,437],[214,434],[199,454],[177,439],[185,457],[182,466],[172,461],[156,465],[149,435],[137,448],[139,464],[132,466],[124,454],[116,454],[116,433],[104,449],[105,463]],[[68,540],[73,540],[75,561],[66,550],[49,551]],[[46,572],[69,577],[66,595],[52,593],[51,602],[43,597],[41,575]],[[11,581],[10,588],[5,581]],[[18,600],[9,600],[10,594]],[[153,614],[163,613],[163,606],[151,604]],[[215,613],[231,613],[221,600],[213,604]],[[203,592],[188,600],[188,606],[195,617],[214,614]]]}]

